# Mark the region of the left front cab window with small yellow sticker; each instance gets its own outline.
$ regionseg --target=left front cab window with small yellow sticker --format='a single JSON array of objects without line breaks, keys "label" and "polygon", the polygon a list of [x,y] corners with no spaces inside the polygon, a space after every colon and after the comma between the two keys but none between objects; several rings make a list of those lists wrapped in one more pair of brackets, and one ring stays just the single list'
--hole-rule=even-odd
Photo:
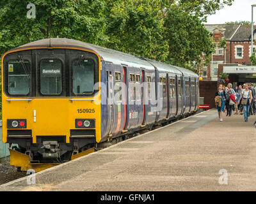
[{"label": "left front cab window with small yellow sticker", "polygon": [[31,64],[28,61],[8,62],[8,93],[11,95],[29,94]]}]

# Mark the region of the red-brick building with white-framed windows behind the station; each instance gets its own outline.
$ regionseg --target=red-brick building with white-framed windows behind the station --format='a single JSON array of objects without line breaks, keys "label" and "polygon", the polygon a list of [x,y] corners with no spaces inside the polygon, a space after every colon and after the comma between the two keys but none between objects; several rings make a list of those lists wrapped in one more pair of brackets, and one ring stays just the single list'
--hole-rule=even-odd
[{"label": "red-brick building with white-framed windows behind the station", "polygon": [[[205,28],[213,34],[216,48],[215,52],[212,53],[209,66],[204,67],[201,77],[203,77],[205,81],[216,81],[218,80],[220,72],[224,70],[227,73],[230,71],[230,80],[233,82],[256,82],[256,78],[252,75],[254,72],[253,69],[250,73],[243,71],[247,70],[247,66],[251,65],[251,25],[214,24],[205,25]],[[256,26],[253,27],[253,39],[256,39],[255,29]],[[227,48],[223,49],[220,47],[221,39],[227,41]],[[255,48],[256,44],[253,43],[253,52]],[[230,66],[230,68],[232,66],[232,69],[235,71],[227,68],[228,66]],[[239,66],[239,68],[240,66],[246,68],[237,69],[237,66]],[[237,70],[240,70],[240,72],[238,73]]]}]

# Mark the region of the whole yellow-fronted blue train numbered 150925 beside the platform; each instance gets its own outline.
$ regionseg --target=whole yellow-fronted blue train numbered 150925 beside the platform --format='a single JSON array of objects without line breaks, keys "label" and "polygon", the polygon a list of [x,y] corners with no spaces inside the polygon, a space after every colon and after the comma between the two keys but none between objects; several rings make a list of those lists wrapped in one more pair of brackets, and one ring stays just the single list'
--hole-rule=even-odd
[{"label": "whole yellow-fronted blue train numbered 150925 beside the platform", "polygon": [[67,38],[13,48],[2,57],[10,164],[41,171],[193,114],[198,82],[188,69]]}]

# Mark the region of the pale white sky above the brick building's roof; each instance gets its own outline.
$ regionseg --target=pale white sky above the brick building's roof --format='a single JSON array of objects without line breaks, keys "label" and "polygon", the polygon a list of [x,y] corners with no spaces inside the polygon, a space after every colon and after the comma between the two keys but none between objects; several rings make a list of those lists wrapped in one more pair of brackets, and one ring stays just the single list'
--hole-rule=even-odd
[{"label": "pale white sky above the brick building's roof", "polygon": [[[207,24],[225,24],[225,22],[234,22],[246,20],[252,22],[252,4],[256,0],[235,0],[232,6],[224,6],[223,9],[216,11],[216,14],[207,17]],[[253,22],[256,22],[256,6],[253,7]]]}]

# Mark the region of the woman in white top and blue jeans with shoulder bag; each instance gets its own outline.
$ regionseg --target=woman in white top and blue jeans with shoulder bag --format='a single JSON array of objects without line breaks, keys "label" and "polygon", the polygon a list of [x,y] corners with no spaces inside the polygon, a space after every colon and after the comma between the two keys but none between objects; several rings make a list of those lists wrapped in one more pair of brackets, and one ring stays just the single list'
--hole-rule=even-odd
[{"label": "woman in white top and blue jeans with shoulder bag", "polygon": [[252,91],[250,91],[248,84],[244,85],[244,90],[238,103],[240,101],[244,108],[244,122],[248,122],[250,103],[252,103]]}]

